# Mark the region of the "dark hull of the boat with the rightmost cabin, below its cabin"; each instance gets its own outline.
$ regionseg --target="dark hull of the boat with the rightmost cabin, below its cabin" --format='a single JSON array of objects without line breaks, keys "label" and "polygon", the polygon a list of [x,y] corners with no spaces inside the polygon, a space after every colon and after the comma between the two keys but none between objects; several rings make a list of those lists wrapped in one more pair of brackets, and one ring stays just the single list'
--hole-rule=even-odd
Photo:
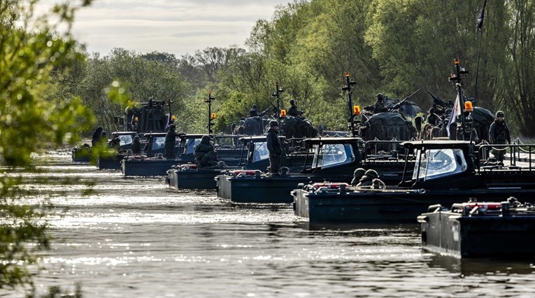
[{"label": "dark hull of the boat with the rightmost cabin, below its cabin", "polygon": [[535,190],[444,190],[406,192],[308,192],[297,189],[294,214],[310,222],[415,222],[418,215],[434,204],[451,206],[459,201],[501,201],[513,196],[535,203]]}]

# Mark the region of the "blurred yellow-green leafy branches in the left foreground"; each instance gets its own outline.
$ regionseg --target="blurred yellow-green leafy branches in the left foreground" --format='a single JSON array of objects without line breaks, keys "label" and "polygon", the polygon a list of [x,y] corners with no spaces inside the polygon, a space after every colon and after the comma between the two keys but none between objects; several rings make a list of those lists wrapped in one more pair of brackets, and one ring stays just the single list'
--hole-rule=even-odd
[{"label": "blurred yellow-green leafy branches in the left foreground", "polygon": [[[76,10],[90,2],[57,5],[42,17],[34,17],[38,1],[0,2],[0,157],[5,166],[31,168],[31,152],[73,143],[78,130],[92,123],[80,99],[50,92],[80,57],[70,29]],[[59,22],[49,24],[50,17]],[[66,31],[59,34],[62,25]],[[0,178],[0,287],[31,285],[26,266],[50,244],[44,211],[17,202],[19,182]]]}]

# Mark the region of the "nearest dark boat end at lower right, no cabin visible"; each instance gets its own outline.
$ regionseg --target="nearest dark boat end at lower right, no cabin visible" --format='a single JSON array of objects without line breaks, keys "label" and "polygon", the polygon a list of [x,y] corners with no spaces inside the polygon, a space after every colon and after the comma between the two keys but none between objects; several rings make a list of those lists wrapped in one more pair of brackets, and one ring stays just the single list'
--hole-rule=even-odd
[{"label": "nearest dark boat end at lower right, no cabin visible", "polygon": [[429,206],[418,216],[422,248],[455,257],[533,257],[535,205],[515,197],[501,202]]}]

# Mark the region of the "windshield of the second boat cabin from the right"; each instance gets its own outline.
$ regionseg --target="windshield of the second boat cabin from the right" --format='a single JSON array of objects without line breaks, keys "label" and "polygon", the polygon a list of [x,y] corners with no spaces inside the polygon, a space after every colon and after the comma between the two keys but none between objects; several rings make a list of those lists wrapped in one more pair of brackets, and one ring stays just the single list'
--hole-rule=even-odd
[{"label": "windshield of the second boat cabin from the right", "polygon": [[351,144],[325,144],[314,146],[312,168],[330,168],[355,161]]}]

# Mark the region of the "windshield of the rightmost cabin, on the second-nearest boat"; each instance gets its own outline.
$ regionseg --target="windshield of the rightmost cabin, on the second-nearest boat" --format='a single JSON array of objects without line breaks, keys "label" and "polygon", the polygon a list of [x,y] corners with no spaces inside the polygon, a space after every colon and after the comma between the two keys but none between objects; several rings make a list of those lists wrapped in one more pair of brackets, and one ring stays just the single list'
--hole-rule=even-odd
[{"label": "windshield of the rightmost cabin, on the second-nearest boat", "polygon": [[461,149],[419,150],[413,180],[431,180],[466,171],[466,159]]}]

